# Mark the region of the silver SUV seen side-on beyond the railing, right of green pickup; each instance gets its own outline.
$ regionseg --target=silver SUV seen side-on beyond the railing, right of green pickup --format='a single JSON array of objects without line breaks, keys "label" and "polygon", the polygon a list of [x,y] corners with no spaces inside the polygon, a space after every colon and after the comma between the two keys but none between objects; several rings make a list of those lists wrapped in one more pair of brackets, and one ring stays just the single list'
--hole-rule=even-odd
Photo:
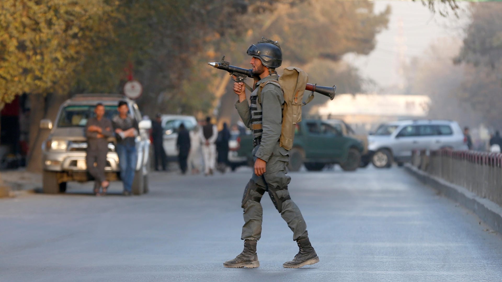
[{"label": "silver SUV seen side-on beyond the railing, right of green pickup", "polygon": [[413,150],[467,150],[467,139],[456,121],[400,120],[380,125],[368,137],[368,154],[377,168],[410,161]]}]

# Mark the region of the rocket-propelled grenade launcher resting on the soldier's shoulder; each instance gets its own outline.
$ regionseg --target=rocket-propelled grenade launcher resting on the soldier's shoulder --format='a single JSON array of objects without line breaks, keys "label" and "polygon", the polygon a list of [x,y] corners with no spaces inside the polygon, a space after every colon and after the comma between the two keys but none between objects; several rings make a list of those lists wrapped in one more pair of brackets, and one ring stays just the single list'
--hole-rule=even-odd
[{"label": "rocket-propelled grenade launcher resting on the soldier's shoulder", "polygon": [[[252,69],[244,69],[244,68],[239,68],[236,66],[230,65],[229,62],[224,61],[225,56],[221,58],[221,62],[209,62],[207,63],[208,65],[212,66],[213,68],[217,68],[220,70],[225,70],[230,73],[230,75],[235,76],[235,81],[236,82],[244,82],[246,77],[250,77],[253,79],[260,79],[259,77],[256,77],[253,75],[253,70]],[[305,86],[305,90],[309,90],[312,92],[317,92],[319,94],[322,94],[324,96],[328,96],[331,100],[335,97],[335,92],[336,92],[336,86],[333,85],[333,87],[329,86],[318,86],[317,84],[311,84],[307,83],[307,86]]]}]

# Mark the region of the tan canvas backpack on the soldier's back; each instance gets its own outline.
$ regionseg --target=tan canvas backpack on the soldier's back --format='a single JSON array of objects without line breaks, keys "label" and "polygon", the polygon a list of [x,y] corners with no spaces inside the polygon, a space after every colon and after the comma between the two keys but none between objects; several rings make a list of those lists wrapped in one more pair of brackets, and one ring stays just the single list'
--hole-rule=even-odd
[{"label": "tan canvas backpack on the soldier's back", "polygon": [[284,73],[279,76],[279,80],[269,80],[260,84],[258,89],[258,101],[262,103],[261,94],[263,87],[272,83],[281,87],[284,95],[283,120],[281,138],[279,144],[286,150],[293,148],[295,138],[295,124],[302,121],[302,106],[308,104],[314,98],[313,93],[309,95],[307,101],[303,101],[303,92],[308,82],[308,75],[305,71],[297,67],[287,67]]}]

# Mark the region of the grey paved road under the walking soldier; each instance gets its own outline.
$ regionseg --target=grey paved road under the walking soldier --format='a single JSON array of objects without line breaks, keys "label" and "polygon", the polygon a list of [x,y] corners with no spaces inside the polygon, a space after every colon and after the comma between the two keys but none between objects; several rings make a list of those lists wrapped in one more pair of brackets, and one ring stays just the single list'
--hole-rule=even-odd
[{"label": "grey paved road under the walking soldier", "polygon": [[298,248],[264,197],[261,266],[223,268],[242,250],[240,199],[251,171],[154,174],[141,197],[0,200],[0,281],[501,281],[502,236],[401,169],[292,173],[320,262]]}]

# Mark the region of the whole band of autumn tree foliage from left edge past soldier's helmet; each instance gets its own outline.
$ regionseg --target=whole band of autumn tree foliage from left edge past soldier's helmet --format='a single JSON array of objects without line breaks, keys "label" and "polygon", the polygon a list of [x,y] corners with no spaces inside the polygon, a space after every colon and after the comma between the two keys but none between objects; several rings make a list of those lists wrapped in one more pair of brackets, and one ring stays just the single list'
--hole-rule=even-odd
[{"label": "whole band of autumn tree foliage from left edge past soldier's helmet", "polygon": [[221,53],[247,63],[245,48],[262,35],[280,40],[291,64],[337,61],[368,54],[390,14],[374,15],[368,1],[321,0],[4,0],[0,9],[1,101],[120,92],[131,64],[150,114],[211,111],[223,74],[205,63]]}]

